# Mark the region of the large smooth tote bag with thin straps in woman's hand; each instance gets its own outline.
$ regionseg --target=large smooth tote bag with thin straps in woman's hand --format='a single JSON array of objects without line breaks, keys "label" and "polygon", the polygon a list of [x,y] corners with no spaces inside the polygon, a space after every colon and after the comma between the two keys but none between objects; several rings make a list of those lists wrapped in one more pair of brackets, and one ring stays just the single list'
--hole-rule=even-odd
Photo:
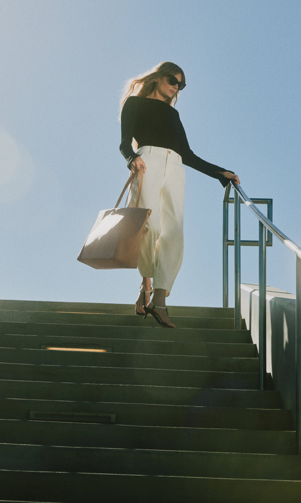
[{"label": "large smooth tote bag with thin straps in woman's hand", "polygon": [[[134,178],[134,174],[129,176],[115,208],[99,212],[78,256],[80,262],[94,269],[135,269],[137,267],[143,229],[152,213],[149,208],[138,208],[143,170],[139,171],[136,180],[136,184],[138,182],[136,206],[118,208],[127,187],[132,186]],[[127,198],[125,205],[126,202]]]}]

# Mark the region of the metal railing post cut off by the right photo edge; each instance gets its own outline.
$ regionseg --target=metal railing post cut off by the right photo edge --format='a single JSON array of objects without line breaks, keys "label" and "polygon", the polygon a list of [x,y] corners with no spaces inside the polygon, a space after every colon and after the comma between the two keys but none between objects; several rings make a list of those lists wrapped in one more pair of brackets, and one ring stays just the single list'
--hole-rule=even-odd
[{"label": "metal railing post cut off by the right photo edge", "polygon": [[301,454],[301,259],[296,256],[296,446]]}]

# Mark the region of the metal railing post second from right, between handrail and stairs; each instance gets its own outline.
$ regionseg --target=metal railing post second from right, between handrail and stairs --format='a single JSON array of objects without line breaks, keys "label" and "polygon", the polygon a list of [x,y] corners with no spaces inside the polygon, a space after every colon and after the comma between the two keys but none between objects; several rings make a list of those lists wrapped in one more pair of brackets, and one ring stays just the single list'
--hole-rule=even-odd
[{"label": "metal railing post second from right, between handrail and stairs", "polygon": [[266,389],[266,229],[259,222],[259,378]]}]

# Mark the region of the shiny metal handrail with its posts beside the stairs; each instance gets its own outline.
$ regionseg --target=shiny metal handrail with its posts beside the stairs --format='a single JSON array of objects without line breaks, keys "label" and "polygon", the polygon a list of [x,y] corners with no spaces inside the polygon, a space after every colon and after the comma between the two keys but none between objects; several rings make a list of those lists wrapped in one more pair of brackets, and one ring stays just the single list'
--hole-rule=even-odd
[{"label": "shiny metal handrail with its posts beside the stairs", "polygon": [[[228,184],[223,198],[223,307],[228,307],[228,246],[233,241],[228,239],[229,228],[229,194],[231,185]],[[234,194],[234,248],[235,248],[235,329],[241,328],[241,245],[256,241],[242,241],[240,239],[240,206],[241,202],[251,210],[253,215],[259,220],[259,376],[260,389],[266,389],[266,245],[271,246],[269,239],[270,232],[274,234],[287,248],[296,255],[296,448],[297,454],[301,454],[301,248],[279,230],[273,222],[267,218],[258,208],[257,204],[262,204],[271,200],[254,200],[247,196],[239,184],[233,184]],[[271,214],[271,213],[270,213]],[[266,229],[268,229],[268,241],[266,241]]]}]

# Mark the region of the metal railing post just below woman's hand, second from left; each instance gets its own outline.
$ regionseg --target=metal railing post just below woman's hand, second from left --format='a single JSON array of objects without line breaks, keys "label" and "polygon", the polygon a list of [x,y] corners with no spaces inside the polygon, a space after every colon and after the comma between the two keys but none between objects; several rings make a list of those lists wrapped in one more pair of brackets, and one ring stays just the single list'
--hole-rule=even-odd
[{"label": "metal railing post just below woman's hand, second from left", "polygon": [[234,262],[235,262],[235,305],[234,327],[241,329],[241,201],[234,191]]}]

